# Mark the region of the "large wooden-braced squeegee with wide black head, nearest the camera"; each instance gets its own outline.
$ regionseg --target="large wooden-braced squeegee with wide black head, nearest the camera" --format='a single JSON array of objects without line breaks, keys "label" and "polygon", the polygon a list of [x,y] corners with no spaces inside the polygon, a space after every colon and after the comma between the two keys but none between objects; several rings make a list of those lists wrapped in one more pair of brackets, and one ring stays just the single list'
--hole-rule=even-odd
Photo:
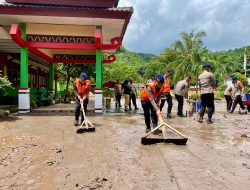
[{"label": "large wooden-braced squeegee with wide black head, nearest the camera", "polygon": [[[160,124],[156,128],[154,128],[153,130],[148,132],[144,137],[141,138],[141,143],[142,144],[147,145],[147,144],[155,144],[155,143],[164,142],[164,143],[174,143],[176,145],[186,145],[188,138],[186,138],[179,131],[177,131],[176,129],[174,129],[173,127],[171,127],[167,123],[165,123],[163,121],[162,116],[159,117],[159,123]],[[155,137],[152,137],[152,138],[149,137],[150,134],[152,134],[153,132],[159,131],[160,128],[162,129],[163,137],[158,136],[158,135],[157,135],[156,138]],[[170,138],[170,137],[168,137],[167,128],[170,129],[171,131],[173,131],[174,133],[178,134],[181,138]]]}]

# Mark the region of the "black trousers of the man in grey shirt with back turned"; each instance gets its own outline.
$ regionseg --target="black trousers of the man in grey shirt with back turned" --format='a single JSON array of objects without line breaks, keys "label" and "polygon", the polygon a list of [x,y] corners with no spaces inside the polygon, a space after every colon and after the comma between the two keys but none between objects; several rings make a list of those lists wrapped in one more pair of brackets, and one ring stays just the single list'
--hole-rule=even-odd
[{"label": "black trousers of the man in grey shirt with back turned", "polygon": [[203,118],[206,108],[208,109],[208,120],[211,120],[213,116],[213,112],[215,110],[213,93],[207,93],[207,94],[201,95],[201,110],[200,110],[201,118]]}]

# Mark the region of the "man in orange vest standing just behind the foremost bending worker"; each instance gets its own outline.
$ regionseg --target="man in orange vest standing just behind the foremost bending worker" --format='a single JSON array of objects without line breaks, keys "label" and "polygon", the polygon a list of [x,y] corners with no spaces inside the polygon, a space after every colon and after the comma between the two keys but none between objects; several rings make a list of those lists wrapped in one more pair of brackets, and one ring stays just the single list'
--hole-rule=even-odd
[{"label": "man in orange vest standing just behind the foremost bending worker", "polygon": [[168,70],[164,73],[165,82],[164,82],[164,86],[163,86],[163,93],[162,93],[162,99],[161,99],[161,105],[160,105],[160,110],[162,111],[162,108],[164,107],[165,101],[167,100],[167,103],[168,103],[167,118],[168,119],[172,118],[171,110],[173,107],[173,100],[172,100],[172,96],[170,94],[170,80],[169,80],[171,74],[172,74],[172,72],[170,70]]}]

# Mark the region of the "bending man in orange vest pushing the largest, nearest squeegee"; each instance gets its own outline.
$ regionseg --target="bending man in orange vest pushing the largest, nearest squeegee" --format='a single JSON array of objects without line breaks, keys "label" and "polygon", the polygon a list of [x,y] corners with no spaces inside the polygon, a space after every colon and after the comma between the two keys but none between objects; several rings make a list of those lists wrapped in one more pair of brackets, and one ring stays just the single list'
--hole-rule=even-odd
[{"label": "bending man in orange vest pushing the largest, nearest squeegee", "polygon": [[[153,127],[157,127],[158,117],[161,112],[159,109],[161,94],[163,91],[164,77],[162,75],[156,75],[156,80],[152,83],[147,83],[144,89],[140,93],[141,104],[144,111],[144,119],[146,124],[146,133],[150,128],[152,119]],[[151,112],[151,119],[150,119]]]}]

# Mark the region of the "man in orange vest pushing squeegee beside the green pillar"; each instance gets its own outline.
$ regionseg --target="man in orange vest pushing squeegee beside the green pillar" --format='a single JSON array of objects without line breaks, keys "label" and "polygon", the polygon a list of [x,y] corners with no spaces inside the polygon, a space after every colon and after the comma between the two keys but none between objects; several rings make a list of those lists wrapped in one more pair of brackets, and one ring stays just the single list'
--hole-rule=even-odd
[{"label": "man in orange vest pushing squeegee beside the green pillar", "polygon": [[[88,75],[85,72],[80,74],[80,77],[74,81],[74,94],[76,95],[76,108],[75,108],[75,122],[74,126],[79,125],[79,116],[81,103],[80,99],[83,99],[83,108],[85,114],[87,113],[87,106],[89,102],[89,92],[91,90],[91,82],[88,79]],[[81,123],[84,121],[83,113],[81,112]]]}]

